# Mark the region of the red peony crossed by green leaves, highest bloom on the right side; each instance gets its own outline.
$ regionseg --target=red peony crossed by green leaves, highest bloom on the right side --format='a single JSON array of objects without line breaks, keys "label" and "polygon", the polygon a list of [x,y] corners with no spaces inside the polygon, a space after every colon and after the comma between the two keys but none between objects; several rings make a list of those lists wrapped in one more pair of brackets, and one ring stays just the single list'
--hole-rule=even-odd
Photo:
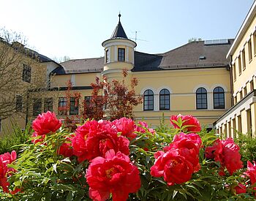
[{"label": "red peony crossed by green leaves, highest bloom on the right side", "polygon": [[[178,125],[178,119],[181,119],[182,125]],[[192,115],[172,115],[170,117],[170,124],[175,129],[183,129],[184,132],[200,132],[201,126],[197,118]]]}]

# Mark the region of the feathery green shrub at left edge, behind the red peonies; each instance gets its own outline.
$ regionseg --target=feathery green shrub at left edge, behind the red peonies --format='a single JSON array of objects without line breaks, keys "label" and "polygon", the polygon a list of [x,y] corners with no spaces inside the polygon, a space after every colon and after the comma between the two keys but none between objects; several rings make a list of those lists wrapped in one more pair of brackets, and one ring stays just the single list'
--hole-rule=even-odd
[{"label": "feathery green shrub at left edge, behind the red peonies", "polygon": [[26,126],[23,131],[19,126],[13,125],[12,131],[6,132],[3,136],[0,136],[0,154],[11,152],[12,150],[19,151],[20,147],[15,145],[20,145],[29,140],[31,136],[30,125]]}]

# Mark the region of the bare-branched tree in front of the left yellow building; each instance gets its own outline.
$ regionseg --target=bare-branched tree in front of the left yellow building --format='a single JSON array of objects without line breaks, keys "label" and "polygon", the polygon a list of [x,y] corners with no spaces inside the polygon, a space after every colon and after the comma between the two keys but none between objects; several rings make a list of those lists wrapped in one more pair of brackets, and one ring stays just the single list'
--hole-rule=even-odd
[{"label": "bare-branched tree in front of the left yellow building", "polygon": [[21,34],[0,29],[0,119],[24,116],[31,104],[29,92],[46,87],[46,67],[25,45]]}]

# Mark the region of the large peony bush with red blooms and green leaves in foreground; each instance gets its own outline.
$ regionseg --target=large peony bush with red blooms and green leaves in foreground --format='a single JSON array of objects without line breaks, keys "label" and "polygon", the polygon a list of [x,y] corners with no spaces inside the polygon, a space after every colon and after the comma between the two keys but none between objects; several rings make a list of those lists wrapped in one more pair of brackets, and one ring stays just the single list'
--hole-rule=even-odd
[{"label": "large peony bush with red blooms and green leaves in foreground", "polygon": [[243,167],[233,139],[191,115],[170,124],[120,118],[72,132],[42,113],[17,159],[0,155],[0,200],[255,200],[256,164]]}]

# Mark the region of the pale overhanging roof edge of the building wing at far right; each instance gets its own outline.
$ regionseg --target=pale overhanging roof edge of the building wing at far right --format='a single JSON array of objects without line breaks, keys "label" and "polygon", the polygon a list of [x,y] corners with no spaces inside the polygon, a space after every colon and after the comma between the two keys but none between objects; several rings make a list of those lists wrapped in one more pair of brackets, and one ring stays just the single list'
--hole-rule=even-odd
[{"label": "pale overhanging roof edge of the building wing at far right", "polygon": [[246,15],[246,18],[244,19],[244,22],[242,23],[238,33],[236,34],[235,40],[233,42],[233,45],[231,46],[230,50],[227,53],[226,57],[229,57],[233,55],[234,51],[239,45],[239,42],[241,41],[242,37],[244,37],[246,29],[250,26],[252,23],[252,20],[255,18],[256,15],[256,1],[252,4],[252,7],[250,8],[249,12]]}]

